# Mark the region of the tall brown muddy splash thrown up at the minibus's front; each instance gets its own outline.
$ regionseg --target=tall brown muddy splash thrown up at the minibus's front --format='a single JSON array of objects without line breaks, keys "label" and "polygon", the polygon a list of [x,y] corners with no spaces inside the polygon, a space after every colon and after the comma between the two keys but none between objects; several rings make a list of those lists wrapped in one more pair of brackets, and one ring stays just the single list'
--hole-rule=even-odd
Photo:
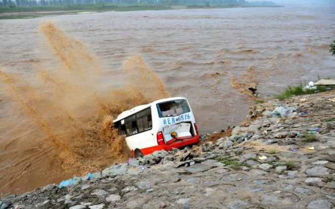
[{"label": "tall brown muddy splash thrown up at the minibus's front", "polygon": [[[42,71],[32,72],[28,79],[0,69],[0,91],[6,95],[1,102],[7,107],[13,102],[18,109],[9,110],[23,113],[13,114],[15,117],[11,120],[18,123],[23,119],[30,121],[37,129],[34,132],[29,130],[32,126],[22,126],[18,132],[27,134],[22,137],[13,133],[3,142],[6,146],[1,148],[4,152],[0,157],[13,162],[7,167],[0,166],[0,171],[7,174],[0,180],[1,190],[5,192],[16,188],[15,192],[24,192],[50,181],[58,183],[59,179],[84,175],[87,171],[125,161],[130,151],[124,138],[113,128],[113,117],[134,106],[169,96],[162,81],[139,55],[128,57],[118,72],[127,78],[126,86],[99,87],[96,81],[106,77],[101,70],[102,61],[91,55],[84,44],[66,36],[51,22],[41,23],[39,32],[53,53],[50,59],[58,62],[59,67],[49,69],[50,66],[44,63]],[[34,64],[43,65],[43,62]],[[113,80],[113,77],[108,79]],[[0,119],[2,124],[9,120]],[[25,146],[20,146],[22,143]],[[39,148],[36,153],[23,155],[35,147]],[[5,152],[7,150],[15,150],[15,159]],[[33,160],[37,155],[43,156],[44,160]],[[15,162],[18,159],[30,164]],[[55,172],[58,170],[57,177],[50,175],[53,170],[44,171],[48,164],[53,165]],[[22,183],[27,176],[42,180]],[[43,181],[45,179],[48,181]]]}]

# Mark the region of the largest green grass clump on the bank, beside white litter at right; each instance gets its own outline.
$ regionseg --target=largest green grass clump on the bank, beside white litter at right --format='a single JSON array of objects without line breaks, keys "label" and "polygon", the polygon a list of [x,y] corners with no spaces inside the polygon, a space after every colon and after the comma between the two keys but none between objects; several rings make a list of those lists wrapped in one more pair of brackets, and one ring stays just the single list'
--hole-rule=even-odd
[{"label": "largest green grass clump on the bank, beside white litter at right", "polygon": [[297,86],[286,87],[283,93],[277,94],[275,97],[279,100],[284,100],[291,98],[292,96],[328,91],[329,87],[332,88],[333,86],[316,86],[316,89],[304,89],[303,84],[300,83]]}]

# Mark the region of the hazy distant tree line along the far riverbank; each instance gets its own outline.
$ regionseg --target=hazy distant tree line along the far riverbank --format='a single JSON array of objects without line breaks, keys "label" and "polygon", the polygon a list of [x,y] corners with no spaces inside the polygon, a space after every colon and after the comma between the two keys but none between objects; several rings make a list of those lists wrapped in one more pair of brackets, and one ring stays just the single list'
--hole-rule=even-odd
[{"label": "hazy distant tree line along the far riverbank", "polygon": [[0,7],[33,7],[48,5],[75,5],[75,4],[135,4],[135,3],[163,3],[170,5],[226,5],[236,6],[274,6],[274,2],[259,1],[247,2],[245,0],[0,0]]}]

